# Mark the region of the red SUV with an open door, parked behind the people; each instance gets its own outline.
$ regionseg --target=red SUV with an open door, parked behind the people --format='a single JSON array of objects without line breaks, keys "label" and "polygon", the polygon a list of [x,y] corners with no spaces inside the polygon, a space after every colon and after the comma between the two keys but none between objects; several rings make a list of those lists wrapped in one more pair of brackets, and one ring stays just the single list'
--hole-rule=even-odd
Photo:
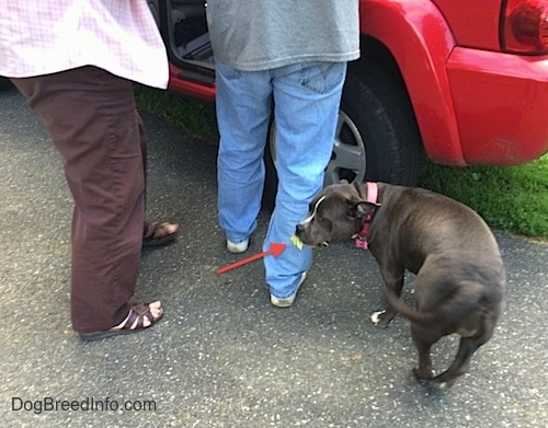
[{"label": "red SUV with an open door, parked behind the people", "polygon": [[[308,0],[311,1],[311,0]],[[339,1],[339,0],[336,0]],[[214,102],[204,0],[149,1],[170,90]],[[515,165],[548,150],[548,0],[361,0],[327,182],[413,184],[446,165]],[[275,161],[275,124],[270,149]]]}]

